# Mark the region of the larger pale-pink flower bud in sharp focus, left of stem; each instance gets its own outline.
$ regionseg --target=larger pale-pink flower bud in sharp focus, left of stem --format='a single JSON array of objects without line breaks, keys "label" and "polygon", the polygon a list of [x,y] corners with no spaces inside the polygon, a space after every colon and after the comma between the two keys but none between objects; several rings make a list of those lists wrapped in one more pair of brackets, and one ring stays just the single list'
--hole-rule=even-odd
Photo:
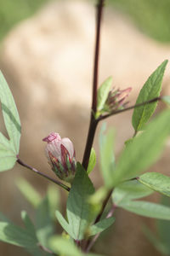
[{"label": "larger pale-pink flower bud in sharp focus, left of stem", "polygon": [[60,179],[71,183],[76,172],[75,150],[71,140],[67,137],[61,139],[59,133],[51,132],[42,141],[48,143],[45,154],[52,170]]}]

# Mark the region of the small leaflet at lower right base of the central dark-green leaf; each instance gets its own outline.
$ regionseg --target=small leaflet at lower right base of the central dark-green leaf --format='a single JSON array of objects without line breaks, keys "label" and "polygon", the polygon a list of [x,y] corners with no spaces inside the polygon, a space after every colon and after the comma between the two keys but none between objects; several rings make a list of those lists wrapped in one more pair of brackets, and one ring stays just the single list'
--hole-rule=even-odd
[{"label": "small leaflet at lower right base of the central dark-green leaf", "polygon": [[108,229],[115,222],[115,218],[104,218],[90,227],[90,235],[94,236]]}]

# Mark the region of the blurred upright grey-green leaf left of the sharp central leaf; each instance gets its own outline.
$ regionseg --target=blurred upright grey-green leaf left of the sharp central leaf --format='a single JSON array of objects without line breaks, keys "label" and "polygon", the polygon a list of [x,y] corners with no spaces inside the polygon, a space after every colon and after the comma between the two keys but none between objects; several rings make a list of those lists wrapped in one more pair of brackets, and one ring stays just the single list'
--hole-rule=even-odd
[{"label": "blurred upright grey-green leaf left of the sharp central leaf", "polygon": [[36,231],[38,241],[43,247],[48,247],[48,238],[54,235],[54,222],[49,210],[48,197],[46,196],[36,212]]}]

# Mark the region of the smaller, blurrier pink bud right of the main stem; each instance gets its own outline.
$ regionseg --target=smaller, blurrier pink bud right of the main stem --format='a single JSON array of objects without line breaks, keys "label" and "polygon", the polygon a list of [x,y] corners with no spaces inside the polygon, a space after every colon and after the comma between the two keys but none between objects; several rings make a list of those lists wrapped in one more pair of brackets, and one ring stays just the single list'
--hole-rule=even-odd
[{"label": "smaller, blurrier pink bud right of the main stem", "polygon": [[105,111],[106,112],[113,112],[117,109],[122,109],[127,105],[125,99],[131,92],[132,88],[129,87],[125,90],[111,90],[105,102]]}]

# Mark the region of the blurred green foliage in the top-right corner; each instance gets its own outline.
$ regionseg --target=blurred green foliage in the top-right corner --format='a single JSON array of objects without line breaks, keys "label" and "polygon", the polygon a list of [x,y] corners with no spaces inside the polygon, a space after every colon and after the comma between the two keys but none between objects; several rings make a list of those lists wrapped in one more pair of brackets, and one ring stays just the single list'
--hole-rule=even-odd
[{"label": "blurred green foliage in the top-right corner", "polygon": [[161,42],[170,42],[170,0],[110,0],[139,28]]}]

